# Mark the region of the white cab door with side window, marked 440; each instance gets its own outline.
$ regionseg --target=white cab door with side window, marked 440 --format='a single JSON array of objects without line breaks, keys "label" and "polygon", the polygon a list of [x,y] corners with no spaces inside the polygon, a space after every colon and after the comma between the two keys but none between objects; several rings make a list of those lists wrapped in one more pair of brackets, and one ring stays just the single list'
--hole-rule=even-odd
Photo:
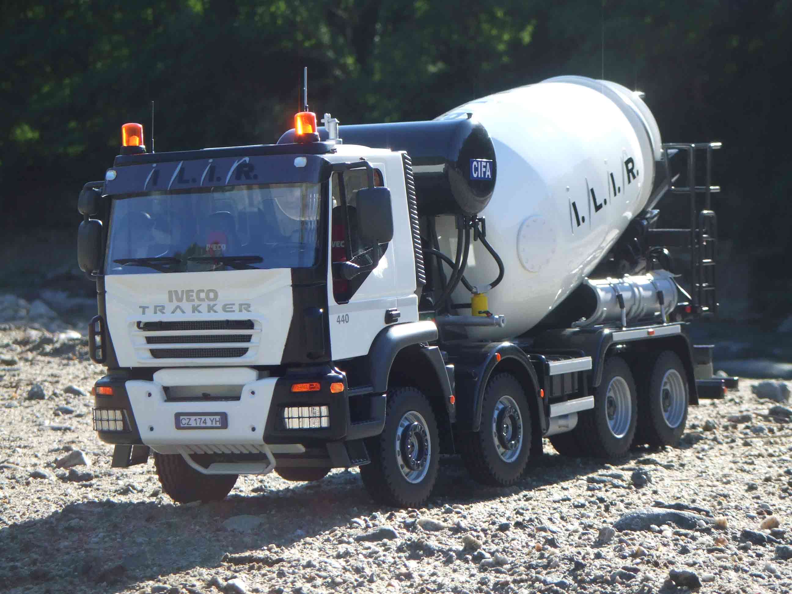
[{"label": "white cab door with side window, marked 440", "polygon": [[[375,185],[385,185],[383,163],[372,162],[371,166]],[[330,179],[332,208],[327,301],[333,360],[367,354],[377,333],[396,321],[386,319],[388,310],[395,311],[397,307],[392,242],[367,245],[360,235],[359,227],[364,222],[357,219],[357,192],[367,187],[366,169],[336,172]],[[376,268],[360,272],[349,280],[341,276],[338,263],[352,261],[365,266],[373,262],[371,257],[378,249]]]}]

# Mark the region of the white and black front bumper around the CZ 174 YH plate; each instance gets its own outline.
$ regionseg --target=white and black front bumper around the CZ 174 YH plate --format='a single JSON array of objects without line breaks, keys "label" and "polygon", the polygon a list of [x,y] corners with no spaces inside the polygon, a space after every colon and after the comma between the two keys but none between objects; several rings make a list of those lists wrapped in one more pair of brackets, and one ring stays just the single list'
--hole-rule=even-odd
[{"label": "white and black front bumper around the CZ 174 YH plate", "polygon": [[[203,454],[227,459],[249,459],[259,454],[262,460],[268,459],[270,467],[251,466],[249,474],[268,472],[275,465],[347,467],[367,462],[361,440],[382,432],[384,394],[350,393],[345,375],[329,367],[258,379],[253,378],[261,374],[246,369],[251,378],[242,385],[240,397],[224,400],[201,398],[198,386],[217,383],[218,379],[229,381],[232,373],[239,375],[239,367],[229,368],[225,374],[216,367],[168,369],[158,371],[152,380],[106,376],[96,384],[95,406],[122,410],[125,423],[124,431],[97,431],[99,438],[108,444],[147,445],[161,454],[185,455],[185,459]],[[292,384],[307,382],[318,383],[319,390],[291,391]],[[345,389],[331,393],[330,384],[338,382]],[[169,387],[185,385],[196,386],[196,398],[169,398]],[[100,386],[112,387],[112,395],[99,394]],[[287,428],[284,409],[310,407],[326,411],[327,427]],[[227,427],[178,428],[178,413],[225,413]],[[238,474],[248,472],[241,467],[238,470]]]}]

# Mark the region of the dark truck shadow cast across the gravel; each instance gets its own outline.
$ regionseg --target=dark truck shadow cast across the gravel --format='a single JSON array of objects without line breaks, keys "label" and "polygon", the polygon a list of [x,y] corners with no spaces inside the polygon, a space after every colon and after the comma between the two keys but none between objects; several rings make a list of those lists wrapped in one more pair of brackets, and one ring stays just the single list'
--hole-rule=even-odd
[{"label": "dark truck shadow cast across the gravel", "polygon": [[[630,465],[646,452],[634,451],[619,465]],[[543,455],[522,482],[495,489],[472,482],[459,457],[449,457],[442,460],[431,503],[466,504],[531,493],[602,468],[602,463],[588,459]],[[40,592],[65,592],[78,584],[122,589],[196,567],[211,572],[222,566],[226,553],[261,551],[269,544],[289,546],[345,527],[352,517],[391,511],[371,501],[356,471],[266,489],[264,494],[234,494],[204,505],[84,501],[43,519],[0,529],[0,583],[12,588],[35,586]],[[256,531],[238,533],[223,527],[224,520],[245,514],[263,520]]]}]

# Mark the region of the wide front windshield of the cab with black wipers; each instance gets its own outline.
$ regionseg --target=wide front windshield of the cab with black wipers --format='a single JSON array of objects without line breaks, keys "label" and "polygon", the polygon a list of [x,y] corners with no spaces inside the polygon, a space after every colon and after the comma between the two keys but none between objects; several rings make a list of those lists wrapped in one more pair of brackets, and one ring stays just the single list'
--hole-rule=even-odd
[{"label": "wide front windshield of the cab with black wipers", "polygon": [[235,185],[115,198],[107,274],[313,266],[319,188]]}]

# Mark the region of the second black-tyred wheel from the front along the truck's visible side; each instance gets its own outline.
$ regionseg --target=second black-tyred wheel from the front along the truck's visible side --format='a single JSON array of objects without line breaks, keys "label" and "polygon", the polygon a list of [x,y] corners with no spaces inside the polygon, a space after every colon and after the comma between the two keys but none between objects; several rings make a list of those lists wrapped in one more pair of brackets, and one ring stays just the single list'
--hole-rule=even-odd
[{"label": "second black-tyred wheel from the front along the truck's visible side", "polygon": [[531,409],[525,390],[512,374],[500,373],[489,379],[481,430],[460,436],[459,447],[474,481],[505,487],[520,480],[531,453]]}]

